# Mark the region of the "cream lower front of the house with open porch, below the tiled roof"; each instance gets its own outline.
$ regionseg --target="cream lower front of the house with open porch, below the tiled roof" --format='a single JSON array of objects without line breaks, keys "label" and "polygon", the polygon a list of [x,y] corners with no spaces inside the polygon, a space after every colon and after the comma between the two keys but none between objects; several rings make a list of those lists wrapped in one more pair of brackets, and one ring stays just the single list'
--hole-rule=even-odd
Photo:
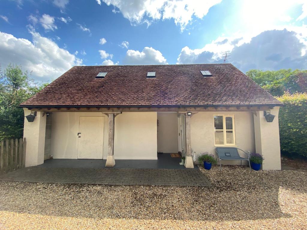
[{"label": "cream lower front of the house with open porch, below the tiled roof", "polygon": [[[280,169],[280,161],[276,160],[280,158],[278,109],[272,106],[24,108],[25,116],[36,115],[33,122],[25,119],[25,165],[41,165],[51,157],[53,160],[42,167],[51,163],[71,162],[77,166],[99,162],[98,168],[194,168],[192,149],[196,154],[215,154],[213,118],[218,115],[232,117],[235,127],[231,130],[232,138],[236,138],[232,146],[261,153],[265,158],[263,169]],[[263,111],[277,116],[274,122],[267,123]],[[159,156],[157,152],[161,149],[164,154],[178,150],[185,156],[185,165],[179,165],[180,158],[170,162]]]}]

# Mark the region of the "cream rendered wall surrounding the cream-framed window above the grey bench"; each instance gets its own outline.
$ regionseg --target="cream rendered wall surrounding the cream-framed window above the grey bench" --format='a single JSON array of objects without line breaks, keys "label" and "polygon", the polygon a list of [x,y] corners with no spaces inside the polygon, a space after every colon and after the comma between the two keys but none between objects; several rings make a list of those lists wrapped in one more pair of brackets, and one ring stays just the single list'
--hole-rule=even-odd
[{"label": "cream rendered wall surrounding the cream-framed window above the grey bench", "polygon": [[[192,149],[196,151],[196,157],[202,152],[208,151],[213,155],[214,143],[214,115],[234,115],[235,140],[237,147],[244,151],[255,151],[254,119],[251,112],[199,112],[191,117],[191,142]],[[239,154],[241,154],[239,152]],[[247,157],[244,153],[241,155]],[[196,158],[197,159],[197,158]],[[221,161],[222,164],[240,164],[240,161]],[[246,162],[242,162],[242,164]]]}]

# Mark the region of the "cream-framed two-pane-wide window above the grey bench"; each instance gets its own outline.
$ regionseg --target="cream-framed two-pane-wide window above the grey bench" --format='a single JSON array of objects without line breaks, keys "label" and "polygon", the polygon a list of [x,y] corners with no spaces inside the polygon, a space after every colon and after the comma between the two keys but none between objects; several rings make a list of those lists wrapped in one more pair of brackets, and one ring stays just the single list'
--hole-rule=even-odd
[{"label": "cream-framed two-pane-wide window above the grey bench", "polygon": [[235,145],[235,122],[233,115],[214,115],[215,145]]}]

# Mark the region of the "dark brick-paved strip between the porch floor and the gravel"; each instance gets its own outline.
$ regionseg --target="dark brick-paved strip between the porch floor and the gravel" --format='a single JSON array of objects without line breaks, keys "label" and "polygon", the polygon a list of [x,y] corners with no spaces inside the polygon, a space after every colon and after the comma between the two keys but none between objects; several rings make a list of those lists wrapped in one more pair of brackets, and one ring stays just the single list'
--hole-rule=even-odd
[{"label": "dark brick-paved strip between the porch floor and the gravel", "polygon": [[33,166],[3,174],[0,180],[103,185],[211,186],[199,169],[94,169]]}]

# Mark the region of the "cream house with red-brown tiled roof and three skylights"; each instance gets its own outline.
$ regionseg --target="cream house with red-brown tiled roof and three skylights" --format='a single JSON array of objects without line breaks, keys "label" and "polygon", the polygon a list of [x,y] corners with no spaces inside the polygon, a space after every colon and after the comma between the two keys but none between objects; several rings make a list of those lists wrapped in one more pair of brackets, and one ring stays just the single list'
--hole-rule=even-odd
[{"label": "cream house with red-brown tiled roof and three skylights", "polygon": [[52,155],[112,167],[163,151],[193,167],[192,149],[231,146],[262,154],[264,170],[281,169],[282,103],[232,64],[75,66],[20,106],[35,116],[25,118],[26,166]]}]

